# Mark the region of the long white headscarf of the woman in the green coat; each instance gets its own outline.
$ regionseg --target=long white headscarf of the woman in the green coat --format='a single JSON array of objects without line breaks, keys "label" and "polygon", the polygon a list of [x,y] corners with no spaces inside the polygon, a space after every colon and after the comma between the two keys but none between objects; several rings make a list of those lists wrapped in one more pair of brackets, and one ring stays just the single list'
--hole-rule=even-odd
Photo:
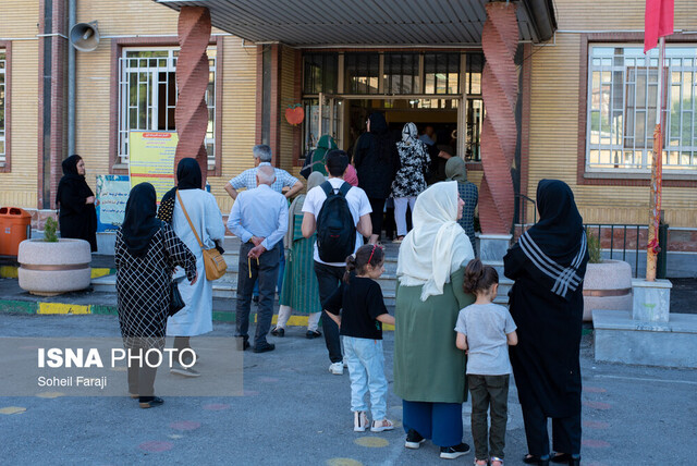
[{"label": "long white headscarf of the woman in the green coat", "polygon": [[404,286],[424,285],[421,301],[443,294],[450,275],[474,259],[472,243],[457,224],[457,182],[436,183],[416,198],[412,230],[398,259]]}]

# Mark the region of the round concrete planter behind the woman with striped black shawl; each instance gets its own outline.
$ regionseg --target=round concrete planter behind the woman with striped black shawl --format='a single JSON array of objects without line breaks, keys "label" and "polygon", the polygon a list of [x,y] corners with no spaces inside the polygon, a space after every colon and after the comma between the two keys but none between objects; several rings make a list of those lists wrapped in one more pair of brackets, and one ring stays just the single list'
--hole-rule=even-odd
[{"label": "round concrete planter behind the woman with striped black shawl", "polygon": [[588,263],[584,279],[584,321],[595,309],[632,311],[632,267],[622,260]]}]

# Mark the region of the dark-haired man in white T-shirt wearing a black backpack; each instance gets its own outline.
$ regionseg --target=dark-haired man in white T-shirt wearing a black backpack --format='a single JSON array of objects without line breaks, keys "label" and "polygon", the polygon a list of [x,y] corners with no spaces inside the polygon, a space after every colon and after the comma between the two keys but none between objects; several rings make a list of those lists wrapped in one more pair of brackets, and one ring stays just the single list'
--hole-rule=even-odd
[{"label": "dark-haired man in white T-shirt wearing a black backpack", "polygon": [[[329,173],[328,183],[339,193],[344,182],[344,173],[348,167],[348,156],[343,150],[331,150],[326,157],[327,172]],[[317,218],[327,199],[327,194],[321,186],[314,187],[307,193],[305,203],[303,204],[303,236],[310,237],[317,230]],[[372,233],[372,223],[370,222],[370,201],[366,193],[357,187],[351,187],[346,193],[346,203],[351,210],[354,224],[356,226],[356,244],[354,253],[364,243],[364,236],[370,236]],[[319,301],[323,303],[333,291],[339,287],[341,280],[346,271],[345,262],[325,262],[319,258],[317,243],[315,243],[315,273],[319,284]],[[341,343],[339,341],[339,326],[322,312],[322,329],[325,331],[325,342],[329,351],[329,359],[331,365],[329,371],[334,375],[344,372],[343,357],[341,354]]]}]

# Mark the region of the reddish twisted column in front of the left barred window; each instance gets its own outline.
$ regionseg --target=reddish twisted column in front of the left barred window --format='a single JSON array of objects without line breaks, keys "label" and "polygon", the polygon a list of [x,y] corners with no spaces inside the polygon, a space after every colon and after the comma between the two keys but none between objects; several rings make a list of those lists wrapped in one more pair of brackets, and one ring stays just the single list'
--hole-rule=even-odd
[{"label": "reddish twisted column in front of the left barred window", "polygon": [[182,7],[179,13],[179,45],[176,60],[176,133],[179,143],[174,156],[174,173],[179,161],[194,157],[200,165],[203,182],[206,183],[208,157],[206,127],[208,107],[208,56],[206,48],[210,40],[210,12],[205,7]]}]

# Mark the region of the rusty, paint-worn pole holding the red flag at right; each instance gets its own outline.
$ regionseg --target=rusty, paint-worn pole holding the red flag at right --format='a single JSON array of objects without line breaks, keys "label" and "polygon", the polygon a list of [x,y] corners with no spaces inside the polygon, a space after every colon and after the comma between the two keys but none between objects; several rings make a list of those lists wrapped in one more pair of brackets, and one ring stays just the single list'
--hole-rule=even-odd
[{"label": "rusty, paint-worn pole holding the red flag at right", "polygon": [[665,37],[661,37],[659,39],[658,57],[658,96],[656,103],[656,127],[653,128],[653,154],[651,159],[649,238],[646,252],[647,282],[656,281],[657,256],[661,250],[658,241],[658,229],[661,221],[661,188],[663,184],[663,133],[661,131],[661,116],[663,108],[663,62],[665,57]]}]

